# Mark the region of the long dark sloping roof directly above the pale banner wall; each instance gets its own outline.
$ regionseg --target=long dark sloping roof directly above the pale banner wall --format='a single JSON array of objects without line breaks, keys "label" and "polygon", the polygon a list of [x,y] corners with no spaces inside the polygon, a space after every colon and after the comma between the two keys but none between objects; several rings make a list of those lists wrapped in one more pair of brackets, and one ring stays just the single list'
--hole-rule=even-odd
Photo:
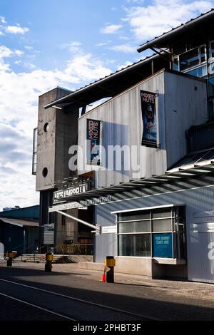
[{"label": "long dark sloping roof directly above the pale banner wall", "polygon": [[156,71],[164,68],[164,59],[157,54],[153,54],[93,83],[89,83],[63,98],[54,100],[45,105],[44,108],[63,105],[65,103],[76,103],[82,106],[101,100],[102,98],[116,96],[127,88],[139,83],[143,78],[151,76],[151,67],[148,66],[148,63],[151,63],[151,61],[156,61]]}]

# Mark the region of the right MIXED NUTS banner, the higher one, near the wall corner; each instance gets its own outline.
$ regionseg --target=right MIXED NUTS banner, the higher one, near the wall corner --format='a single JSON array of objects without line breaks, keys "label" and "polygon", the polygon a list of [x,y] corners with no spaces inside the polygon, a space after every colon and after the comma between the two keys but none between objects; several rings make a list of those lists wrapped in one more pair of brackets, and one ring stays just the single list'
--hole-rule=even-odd
[{"label": "right MIXED NUTS banner, the higher one, near the wall corner", "polygon": [[141,91],[143,136],[141,145],[157,148],[156,94]]}]

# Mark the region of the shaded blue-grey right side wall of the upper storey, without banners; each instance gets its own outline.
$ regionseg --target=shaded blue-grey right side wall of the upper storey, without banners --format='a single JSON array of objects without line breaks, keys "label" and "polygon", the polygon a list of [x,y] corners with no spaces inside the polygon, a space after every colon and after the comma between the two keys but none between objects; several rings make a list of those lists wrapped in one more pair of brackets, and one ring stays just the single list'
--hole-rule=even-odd
[{"label": "shaded blue-grey right side wall of the upper storey, without banners", "polygon": [[[195,89],[197,88],[197,89]],[[206,83],[165,72],[168,168],[187,154],[185,131],[208,120]]]}]

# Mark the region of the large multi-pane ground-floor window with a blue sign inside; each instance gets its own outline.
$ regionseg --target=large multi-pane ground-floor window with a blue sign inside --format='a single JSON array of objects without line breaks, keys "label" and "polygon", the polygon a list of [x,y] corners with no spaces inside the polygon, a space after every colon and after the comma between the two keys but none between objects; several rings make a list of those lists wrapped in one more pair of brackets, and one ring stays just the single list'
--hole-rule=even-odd
[{"label": "large multi-pane ground-floor window with a blue sign inside", "polygon": [[118,256],[185,258],[185,207],[121,212]]}]

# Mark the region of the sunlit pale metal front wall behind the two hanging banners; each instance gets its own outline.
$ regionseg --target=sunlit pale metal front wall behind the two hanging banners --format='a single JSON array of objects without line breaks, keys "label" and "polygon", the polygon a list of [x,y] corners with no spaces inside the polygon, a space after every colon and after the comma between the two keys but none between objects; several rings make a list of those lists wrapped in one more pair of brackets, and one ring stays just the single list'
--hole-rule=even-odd
[{"label": "sunlit pale metal front wall behind the two hanging banners", "polygon": [[[159,92],[158,96],[158,113],[161,115],[161,143],[163,150],[156,148],[148,148],[141,145],[143,122],[141,116],[141,97],[140,90],[151,92]],[[163,104],[164,104],[164,73],[158,73],[153,78],[139,83],[138,86],[122,93],[113,100],[104,103],[98,108],[86,113],[79,119],[78,128],[78,144],[83,148],[82,155],[78,155],[79,168],[78,172],[86,172],[88,170],[96,170],[96,187],[102,187],[119,182],[126,182],[133,177],[150,177],[151,175],[161,174],[166,170],[165,155],[165,130],[163,121]],[[102,167],[86,165],[85,143],[86,139],[86,118],[94,120],[102,120],[102,138],[103,145],[137,145],[138,154],[142,152],[143,159],[140,163],[139,175],[133,175],[133,169],[128,171],[101,170]],[[83,159],[83,165],[81,160]],[[131,165],[131,159],[130,159]]]}]

